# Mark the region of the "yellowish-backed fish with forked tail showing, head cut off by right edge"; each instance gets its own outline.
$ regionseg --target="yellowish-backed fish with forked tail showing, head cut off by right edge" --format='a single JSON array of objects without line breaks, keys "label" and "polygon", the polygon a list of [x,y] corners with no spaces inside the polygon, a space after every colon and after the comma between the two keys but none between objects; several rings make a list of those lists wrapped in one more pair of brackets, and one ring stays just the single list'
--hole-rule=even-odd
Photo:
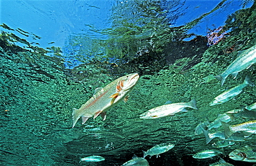
[{"label": "yellowish-backed fish with forked tail showing, head cut off by right edge", "polygon": [[230,125],[226,122],[221,122],[225,131],[225,138],[229,138],[233,133],[241,131],[245,136],[250,136],[256,133],[256,120],[244,122],[241,124]]}]

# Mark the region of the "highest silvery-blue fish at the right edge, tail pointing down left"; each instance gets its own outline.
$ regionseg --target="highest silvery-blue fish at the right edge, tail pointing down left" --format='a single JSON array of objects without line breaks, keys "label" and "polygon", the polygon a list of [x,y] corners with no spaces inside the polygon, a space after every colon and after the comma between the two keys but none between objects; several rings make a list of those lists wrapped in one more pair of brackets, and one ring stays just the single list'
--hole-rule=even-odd
[{"label": "highest silvery-blue fish at the right edge, tail pointing down left", "polygon": [[237,73],[244,71],[244,69],[256,63],[256,45],[247,50],[239,51],[238,55],[237,59],[226,68],[226,71],[216,76],[218,80],[221,80],[221,86],[223,86],[228,75],[231,74],[235,78],[237,77]]}]

